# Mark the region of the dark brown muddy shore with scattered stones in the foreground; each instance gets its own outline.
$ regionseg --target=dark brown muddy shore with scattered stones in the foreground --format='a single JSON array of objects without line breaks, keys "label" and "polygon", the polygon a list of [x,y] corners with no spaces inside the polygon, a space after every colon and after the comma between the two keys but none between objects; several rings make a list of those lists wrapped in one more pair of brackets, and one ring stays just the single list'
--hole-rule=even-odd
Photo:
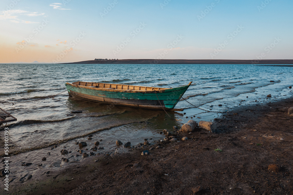
[{"label": "dark brown muddy shore with scattered stones in the foreground", "polygon": [[[292,106],[290,98],[233,110],[215,119],[216,134],[180,134],[188,140],[158,142],[145,148],[161,146],[148,156],[137,148],[39,168],[9,194],[194,194],[198,186],[197,194],[293,194]],[[269,171],[270,164],[279,170]]]}]

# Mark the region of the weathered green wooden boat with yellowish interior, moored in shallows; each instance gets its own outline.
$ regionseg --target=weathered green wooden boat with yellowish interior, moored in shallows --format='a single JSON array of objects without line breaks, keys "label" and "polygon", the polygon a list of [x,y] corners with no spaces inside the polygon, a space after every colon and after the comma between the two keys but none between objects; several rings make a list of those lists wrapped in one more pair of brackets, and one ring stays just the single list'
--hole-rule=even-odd
[{"label": "weathered green wooden boat with yellowish interior, moored in shallows", "polygon": [[95,82],[66,83],[70,97],[147,109],[173,109],[192,82],[183,87],[158,88]]}]

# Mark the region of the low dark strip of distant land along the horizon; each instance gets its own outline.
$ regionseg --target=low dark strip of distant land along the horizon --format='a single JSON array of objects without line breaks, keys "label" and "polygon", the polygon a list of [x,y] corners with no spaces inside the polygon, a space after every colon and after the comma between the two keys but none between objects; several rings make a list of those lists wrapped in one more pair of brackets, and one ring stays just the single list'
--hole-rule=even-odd
[{"label": "low dark strip of distant land along the horizon", "polygon": [[[125,59],[125,60],[88,60],[61,64],[272,64],[275,66],[290,64],[293,60],[156,60],[156,59]],[[277,64],[277,65],[276,65]]]}]

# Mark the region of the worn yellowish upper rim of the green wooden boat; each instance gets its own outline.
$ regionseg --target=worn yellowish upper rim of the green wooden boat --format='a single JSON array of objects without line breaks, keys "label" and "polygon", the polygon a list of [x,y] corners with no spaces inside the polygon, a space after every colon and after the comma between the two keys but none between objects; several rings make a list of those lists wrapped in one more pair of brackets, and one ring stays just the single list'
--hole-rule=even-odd
[{"label": "worn yellowish upper rim of the green wooden boat", "polygon": [[[162,93],[165,92],[168,89],[171,89],[171,91],[176,91],[178,88],[184,88],[187,86],[190,86],[190,84],[192,82],[190,82],[188,85],[184,85],[181,87],[175,87],[175,88],[161,88],[161,87],[152,87],[152,88],[158,88],[158,90],[124,90],[124,89],[105,89],[105,88],[98,88],[98,87],[86,87],[86,86],[82,86],[82,85],[77,85],[74,83],[79,83],[81,81],[77,81],[77,82],[73,82],[73,83],[65,83],[65,85],[70,85],[72,87],[78,87],[78,88],[84,88],[84,89],[91,89],[91,90],[97,90],[97,91],[107,91],[107,92],[124,92],[124,93]],[[97,82],[86,82],[86,83],[95,83],[98,84]],[[100,83],[100,84],[113,84],[113,83]],[[125,84],[116,84],[116,85],[125,85]],[[131,87],[146,87],[146,86],[137,86],[137,85],[127,85],[127,86],[131,86]],[[151,88],[151,87],[149,87]],[[70,91],[70,89],[68,89]]]}]

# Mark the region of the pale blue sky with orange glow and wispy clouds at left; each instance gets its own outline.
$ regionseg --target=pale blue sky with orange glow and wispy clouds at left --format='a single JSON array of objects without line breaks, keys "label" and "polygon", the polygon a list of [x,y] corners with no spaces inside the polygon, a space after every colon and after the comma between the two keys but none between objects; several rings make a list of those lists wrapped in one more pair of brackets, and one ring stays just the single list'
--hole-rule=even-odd
[{"label": "pale blue sky with orange glow and wispy clouds at left", "polygon": [[292,59],[292,0],[1,0],[0,63]]}]

